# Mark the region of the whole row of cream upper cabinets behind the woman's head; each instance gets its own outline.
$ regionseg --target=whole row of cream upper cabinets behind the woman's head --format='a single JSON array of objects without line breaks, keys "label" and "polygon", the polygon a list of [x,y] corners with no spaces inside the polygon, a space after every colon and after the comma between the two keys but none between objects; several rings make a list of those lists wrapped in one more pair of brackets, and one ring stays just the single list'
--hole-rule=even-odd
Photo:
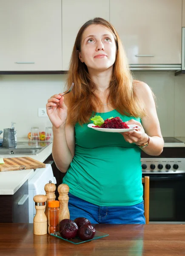
[{"label": "whole row of cream upper cabinets behind the woman's head", "polygon": [[181,67],[185,0],[0,0],[0,71],[68,70],[94,17],[114,25],[132,68]]}]

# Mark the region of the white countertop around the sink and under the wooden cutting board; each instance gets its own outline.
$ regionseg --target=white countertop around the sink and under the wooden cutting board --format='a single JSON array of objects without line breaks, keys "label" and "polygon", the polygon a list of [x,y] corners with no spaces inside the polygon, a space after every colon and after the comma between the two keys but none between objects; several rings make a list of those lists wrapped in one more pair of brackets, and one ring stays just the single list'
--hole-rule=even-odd
[{"label": "white countertop around the sink and under the wooden cutting board", "polygon": [[[18,141],[28,141],[21,138]],[[49,144],[40,154],[37,155],[21,155],[6,154],[0,155],[2,158],[9,157],[31,157],[37,161],[44,162],[52,152],[52,143]],[[34,169],[0,172],[0,195],[14,195],[14,193],[34,174]]]}]

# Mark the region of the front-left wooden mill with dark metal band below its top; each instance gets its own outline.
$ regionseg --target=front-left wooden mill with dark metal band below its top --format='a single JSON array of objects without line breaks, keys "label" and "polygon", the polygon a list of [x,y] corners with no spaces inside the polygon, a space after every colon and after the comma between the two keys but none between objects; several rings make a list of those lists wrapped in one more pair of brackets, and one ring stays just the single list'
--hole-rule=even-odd
[{"label": "front-left wooden mill with dark metal band below its top", "polygon": [[45,235],[48,232],[47,217],[44,213],[46,208],[46,195],[35,195],[35,209],[36,215],[34,216],[34,235]]}]

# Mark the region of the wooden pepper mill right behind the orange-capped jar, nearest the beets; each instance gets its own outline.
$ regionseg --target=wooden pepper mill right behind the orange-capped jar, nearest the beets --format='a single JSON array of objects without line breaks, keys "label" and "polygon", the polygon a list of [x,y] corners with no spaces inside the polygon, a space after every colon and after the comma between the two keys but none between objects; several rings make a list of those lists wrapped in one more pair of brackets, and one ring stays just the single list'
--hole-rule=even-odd
[{"label": "wooden pepper mill right behind the orange-capped jar, nearest the beets", "polygon": [[58,186],[58,201],[60,202],[60,210],[59,210],[59,222],[65,218],[70,218],[69,209],[68,209],[68,192],[69,186],[67,184],[60,184]]}]

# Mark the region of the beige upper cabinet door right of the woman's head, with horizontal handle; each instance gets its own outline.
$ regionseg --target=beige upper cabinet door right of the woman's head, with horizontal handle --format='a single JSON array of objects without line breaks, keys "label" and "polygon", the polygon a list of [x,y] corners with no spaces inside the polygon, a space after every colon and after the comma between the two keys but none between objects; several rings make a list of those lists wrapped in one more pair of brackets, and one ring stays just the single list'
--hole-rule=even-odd
[{"label": "beige upper cabinet door right of the woman's head, with horizontal handle", "polygon": [[110,0],[130,64],[181,64],[182,0]]}]

